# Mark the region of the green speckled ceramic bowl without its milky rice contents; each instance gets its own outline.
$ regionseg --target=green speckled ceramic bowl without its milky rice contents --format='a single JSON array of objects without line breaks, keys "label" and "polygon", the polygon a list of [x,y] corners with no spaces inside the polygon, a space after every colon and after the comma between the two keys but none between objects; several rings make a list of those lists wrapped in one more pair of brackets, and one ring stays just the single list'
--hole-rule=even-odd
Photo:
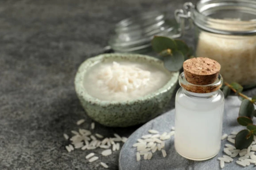
[{"label": "green speckled ceramic bowl without its milky rice contents", "polygon": [[154,57],[139,54],[102,54],[84,61],[75,76],[75,90],[82,107],[92,119],[105,126],[127,127],[151,120],[165,109],[176,87],[179,72],[172,72],[170,80],[157,91],[130,101],[101,101],[84,89],[84,75],[92,66],[104,61],[133,61],[164,67]]}]

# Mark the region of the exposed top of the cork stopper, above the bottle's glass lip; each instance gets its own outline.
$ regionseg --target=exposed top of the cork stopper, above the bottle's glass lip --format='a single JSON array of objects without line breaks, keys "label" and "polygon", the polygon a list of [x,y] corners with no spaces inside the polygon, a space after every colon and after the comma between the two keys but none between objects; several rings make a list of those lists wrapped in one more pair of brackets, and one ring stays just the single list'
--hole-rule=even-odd
[{"label": "exposed top of the cork stopper, above the bottle's glass lip", "polygon": [[185,78],[188,82],[197,85],[212,84],[218,78],[220,64],[209,58],[191,58],[183,63]]}]

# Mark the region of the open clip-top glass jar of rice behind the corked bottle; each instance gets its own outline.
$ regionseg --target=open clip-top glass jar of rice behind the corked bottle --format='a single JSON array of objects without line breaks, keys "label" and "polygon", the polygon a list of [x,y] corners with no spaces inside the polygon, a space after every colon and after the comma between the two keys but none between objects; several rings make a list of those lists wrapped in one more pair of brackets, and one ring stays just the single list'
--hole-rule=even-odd
[{"label": "open clip-top glass jar of rice behind the corked bottle", "polygon": [[256,85],[256,1],[201,0],[175,11],[180,33],[195,30],[195,56],[221,65],[225,82]]}]

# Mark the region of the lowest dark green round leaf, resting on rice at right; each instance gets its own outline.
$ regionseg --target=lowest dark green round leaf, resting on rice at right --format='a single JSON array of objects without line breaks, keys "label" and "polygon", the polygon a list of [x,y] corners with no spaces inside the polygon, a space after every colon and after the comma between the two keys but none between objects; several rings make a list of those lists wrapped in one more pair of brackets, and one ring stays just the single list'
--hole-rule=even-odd
[{"label": "lowest dark green round leaf, resting on rice at right", "polygon": [[244,129],[241,130],[235,138],[235,146],[237,149],[245,149],[248,148],[253,142],[253,135],[249,130]]}]

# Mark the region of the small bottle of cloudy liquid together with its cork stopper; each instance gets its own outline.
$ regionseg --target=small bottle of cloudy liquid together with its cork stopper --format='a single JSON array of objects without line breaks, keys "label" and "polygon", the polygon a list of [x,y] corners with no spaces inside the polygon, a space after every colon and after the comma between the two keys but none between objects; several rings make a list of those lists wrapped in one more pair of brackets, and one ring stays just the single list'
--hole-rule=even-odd
[{"label": "small bottle of cloudy liquid together with its cork stopper", "polygon": [[188,59],[179,76],[174,144],[176,151],[190,160],[207,160],[220,150],[224,95],[220,65],[214,70],[215,64],[219,65],[208,58]]}]

